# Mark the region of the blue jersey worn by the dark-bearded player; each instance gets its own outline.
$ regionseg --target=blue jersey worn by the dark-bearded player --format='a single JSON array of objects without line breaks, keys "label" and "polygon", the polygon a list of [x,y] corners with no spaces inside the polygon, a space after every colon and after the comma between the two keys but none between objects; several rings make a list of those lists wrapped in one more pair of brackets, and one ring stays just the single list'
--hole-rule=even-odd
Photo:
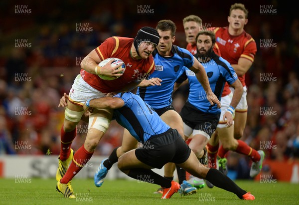
[{"label": "blue jersey worn by the dark-bearded player", "polygon": [[[197,57],[197,54],[195,55]],[[234,83],[238,76],[235,73],[234,68],[222,57],[216,55],[213,51],[211,54],[211,60],[208,62],[201,62],[206,70],[209,83],[213,93],[221,100],[224,84],[227,81],[229,84]],[[188,78],[189,81],[189,96],[188,101],[194,107],[202,112],[206,113],[220,113],[221,109],[217,108],[217,105],[211,105],[207,100],[206,92],[202,85],[198,82],[195,73],[184,68],[183,74],[177,79],[176,82],[181,83]]]}]

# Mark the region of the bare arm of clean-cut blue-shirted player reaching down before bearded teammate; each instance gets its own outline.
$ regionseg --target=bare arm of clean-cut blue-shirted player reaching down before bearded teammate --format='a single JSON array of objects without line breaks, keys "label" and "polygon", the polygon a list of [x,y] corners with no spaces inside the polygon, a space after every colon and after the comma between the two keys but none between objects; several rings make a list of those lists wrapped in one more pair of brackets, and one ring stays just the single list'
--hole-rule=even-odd
[{"label": "bare arm of clean-cut blue-shirted player reaching down before bearded teammate", "polygon": [[202,66],[202,64],[199,63],[199,61],[193,56],[194,63],[193,66],[191,66],[189,69],[192,70],[195,73],[195,76],[197,80],[202,85],[203,89],[205,90],[207,94],[207,99],[211,103],[211,105],[214,105],[214,103],[217,104],[217,107],[221,107],[219,99],[216,97],[216,95],[212,92],[212,89],[210,87],[209,79],[207,76],[207,73]]}]

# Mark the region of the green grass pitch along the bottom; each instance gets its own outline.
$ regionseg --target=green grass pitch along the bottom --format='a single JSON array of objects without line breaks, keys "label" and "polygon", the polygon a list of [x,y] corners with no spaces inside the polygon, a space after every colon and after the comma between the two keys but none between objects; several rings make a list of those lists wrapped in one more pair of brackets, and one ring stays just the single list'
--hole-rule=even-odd
[{"label": "green grass pitch along the bottom", "polygon": [[74,179],[72,187],[77,199],[65,199],[55,191],[55,179],[31,179],[15,182],[0,179],[0,204],[5,205],[299,205],[299,185],[289,183],[260,184],[252,181],[236,181],[250,191],[255,201],[242,201],[236,195],[214,187],[205,187],[197,194],[181,197],[178,193],[171,199],[161,200],[153,194],[157,185],[127,180],[106,180],[101,188],[92,179]]}]

